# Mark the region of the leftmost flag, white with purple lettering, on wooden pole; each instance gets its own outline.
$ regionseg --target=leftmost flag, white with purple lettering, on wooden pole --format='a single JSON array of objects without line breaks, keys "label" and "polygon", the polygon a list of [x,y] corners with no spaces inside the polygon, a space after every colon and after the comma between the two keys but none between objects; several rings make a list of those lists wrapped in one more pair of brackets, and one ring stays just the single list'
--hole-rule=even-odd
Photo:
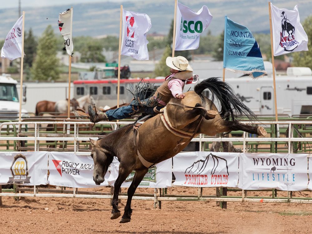
[{"label": "leftmost flag, white with purple lettering, on wooden pole", "polygon": [[17,20],[10,32],[7,34],[1,49],[2,58],[14,60],[22,57],[22,25],[23,16]]}]

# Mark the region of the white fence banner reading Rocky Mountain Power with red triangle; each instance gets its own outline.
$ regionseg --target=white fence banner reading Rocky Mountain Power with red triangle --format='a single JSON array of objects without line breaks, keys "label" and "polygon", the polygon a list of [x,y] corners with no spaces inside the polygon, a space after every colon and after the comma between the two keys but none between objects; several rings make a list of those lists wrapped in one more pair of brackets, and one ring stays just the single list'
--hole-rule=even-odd
[{"label": "white fence banner reading Rocky Mountain Power with red triangle", "polygon": [[108,186],[110,173],[105,174],[105,180],[101,185],[96,185],[93,181],[93,168],[94,163],[91,156],[50,152],[48,183],[72,188]]}]

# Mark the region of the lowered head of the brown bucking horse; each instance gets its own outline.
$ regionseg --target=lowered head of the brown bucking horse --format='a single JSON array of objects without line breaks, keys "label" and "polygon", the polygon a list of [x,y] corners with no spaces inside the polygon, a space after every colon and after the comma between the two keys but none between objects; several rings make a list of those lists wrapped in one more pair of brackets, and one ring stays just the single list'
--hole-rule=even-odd
[{"label": "lowered head of the brown bucking horse", "polygon": [[100,185],[104,182],[104,176],[114,157],[110,151],[100,146],[99,141],[90,138],[90,142],[92,144],[91,158],[94,163],[93,180],[96,185]]}]

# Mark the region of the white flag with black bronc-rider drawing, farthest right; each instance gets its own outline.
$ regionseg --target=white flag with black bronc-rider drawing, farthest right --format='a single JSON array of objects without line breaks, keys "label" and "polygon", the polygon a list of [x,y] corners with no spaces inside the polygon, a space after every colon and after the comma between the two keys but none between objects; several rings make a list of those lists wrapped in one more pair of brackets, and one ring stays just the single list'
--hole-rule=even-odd
[{"label": "white flag with black bronc-rider drawing, farthest right", "polygon": [[308,36],[300,23],[297,6],[291,11],[271,3],[274,56],[308,50]]}]

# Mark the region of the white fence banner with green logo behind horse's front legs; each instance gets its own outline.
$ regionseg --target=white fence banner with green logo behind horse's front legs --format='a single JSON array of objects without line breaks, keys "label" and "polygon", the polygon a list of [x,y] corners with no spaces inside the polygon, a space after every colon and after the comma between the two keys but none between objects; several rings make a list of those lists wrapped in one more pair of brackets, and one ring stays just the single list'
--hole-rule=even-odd
[{"label": "white fence banner with green logo behind horse's front legs", "polygon": [[[110,165],[110,178],[108,183],[114,186],[114,183],[118,177],[119,161],[114,158]],[[121,184],[121,187],[128,188],[132,183],[135,171],[132,171],[125,181]],[[172,159],[169,158],[163,162],[155,164],[149,168],[149,171],[145,174],[143,180],[139,184],[140,188],[169,188],[172,182]]]}]

